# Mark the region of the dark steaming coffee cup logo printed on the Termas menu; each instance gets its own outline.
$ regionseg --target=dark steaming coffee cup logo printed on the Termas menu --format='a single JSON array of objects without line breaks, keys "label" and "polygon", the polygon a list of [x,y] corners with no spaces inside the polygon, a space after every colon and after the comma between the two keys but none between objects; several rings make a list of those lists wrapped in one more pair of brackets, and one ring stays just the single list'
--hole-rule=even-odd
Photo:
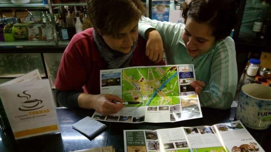
[{"label": "dark steaming coffee cup logo printed on the Termas menu", "polygon": [[28,90],[22,92],[22,94],[24,94],[24,96],[20,95],[20,94],[17,95],[19,98],[26,98],[26,101],[21,102],[22,106],[19,107],[20,111],[31,111],[31,110],[36,110],[36,109],[44,107],[44,105],[40,105],[42,103],[42,100],[30,99],[31,95],[26,94],[27,91]]}]

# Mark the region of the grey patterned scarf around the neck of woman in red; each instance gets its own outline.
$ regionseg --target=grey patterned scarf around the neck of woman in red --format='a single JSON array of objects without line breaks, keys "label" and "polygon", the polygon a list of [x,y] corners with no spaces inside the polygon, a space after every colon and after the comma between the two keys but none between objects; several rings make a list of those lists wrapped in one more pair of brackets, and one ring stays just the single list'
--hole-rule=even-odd
[{"label": "grey patterned scarf around the neck of woman in red", "polygon": [[103,40],[103,37],[99,35],[95,30],[93,31],[93,38],[95,45],[98,47],[98,51],[103,59],[108,63],[108,69],[126,68],[129,67],[133,53],[135,51],[137,40],[134,41],[131,51],[127,54],[121,53],[111,49]]}]

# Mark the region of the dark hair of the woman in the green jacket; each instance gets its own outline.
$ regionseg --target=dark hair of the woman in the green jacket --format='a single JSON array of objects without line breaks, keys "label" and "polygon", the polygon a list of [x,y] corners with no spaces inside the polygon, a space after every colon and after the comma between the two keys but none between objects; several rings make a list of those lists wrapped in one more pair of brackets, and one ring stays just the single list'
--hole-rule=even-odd
[{"label": "dark hair of the woman in the green jacket", "polygon": [[237,4],[234,0],[192,0],[184,3],[184,23],[192,18],[198,23],[208,23],[216,40],[229,36],[237,24]]}]

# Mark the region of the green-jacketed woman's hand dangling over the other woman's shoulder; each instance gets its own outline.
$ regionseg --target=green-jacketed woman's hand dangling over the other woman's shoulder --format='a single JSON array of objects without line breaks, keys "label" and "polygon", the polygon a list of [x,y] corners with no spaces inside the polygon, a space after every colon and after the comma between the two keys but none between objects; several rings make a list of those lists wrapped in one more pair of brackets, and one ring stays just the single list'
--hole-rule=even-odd
[{"label": "green-jacketed woman's hand dangling over the other woman's shoulder", "polygon": [[148,38],[146,44],[146,56],[149,57],[151,61],[159,63],[163,60],[164,48],[163,41],[155,29],[148,29],[145,32],[145,36]]}]

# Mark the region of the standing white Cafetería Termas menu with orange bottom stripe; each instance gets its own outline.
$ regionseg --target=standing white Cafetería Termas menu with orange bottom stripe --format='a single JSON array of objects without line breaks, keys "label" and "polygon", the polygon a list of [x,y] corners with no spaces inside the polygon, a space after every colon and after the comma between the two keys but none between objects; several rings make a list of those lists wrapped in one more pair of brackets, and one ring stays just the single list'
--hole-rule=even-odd
[{"label": "standing white Cafeter\u00eda Termas menu with orange bottom stripe", "polygon": [[50,82],[38,70],[1,84],[0,97],[15,139],[59,131]]}]

